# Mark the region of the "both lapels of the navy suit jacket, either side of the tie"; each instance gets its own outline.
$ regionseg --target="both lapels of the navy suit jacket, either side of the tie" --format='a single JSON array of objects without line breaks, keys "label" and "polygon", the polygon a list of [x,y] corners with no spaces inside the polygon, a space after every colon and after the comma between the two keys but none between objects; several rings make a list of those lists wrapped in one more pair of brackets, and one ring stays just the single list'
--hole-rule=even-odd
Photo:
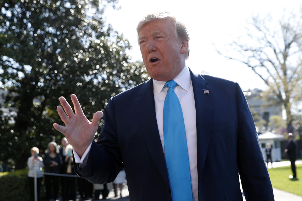
[{"label": "both lapels of the navy suit jacket, either side of the tie", "polygon": [[[198,177],[200,179],[208,152],[213,126],[213,89],[210,86],[206,86],[207,81],[200,74],[192,73],[191,70],[190,73],[196,108],[197,167],[199,172]],[[204,90],[208,90],[209,94],[205,93]],[[139,126],[150,155],[165,181],[169,183],[165,157],[156,121],[152,79],[146,82],[145,86],[140,91],[140,95],[141,97],[137,99]]]}]

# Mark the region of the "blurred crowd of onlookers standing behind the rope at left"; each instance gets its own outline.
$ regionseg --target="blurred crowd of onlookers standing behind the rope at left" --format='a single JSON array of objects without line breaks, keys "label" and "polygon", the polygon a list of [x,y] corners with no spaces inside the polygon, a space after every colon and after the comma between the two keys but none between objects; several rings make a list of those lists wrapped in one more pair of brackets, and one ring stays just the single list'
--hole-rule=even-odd
[{"label": "blurred crowd of onlookers standing behind the rope at left", "polygon": [[[102,199],[106,199],[111,189],[114,189],[115,197],[122,197],[121,190],[123,184],[126,183],[124,170],[120,171],[115,181],[112,182],[113,185],[111,183],[92,184],[84,178],[75,177],[72,146],[66,138],[62,139],[60,148],[55,142],[48,143],[43,158],[39,156],[37,147],[31,148],[31,157],[27,160],[27,166],[29,168],[28,178],[31,186],[31,200],[35,200],[35,174],[37,178],[37,200],[47,201],[99,200],[100,195],[102,195]],[[44,172],[42,171],[43,167]],[[41,195],[43,178],[46,193]]]}]

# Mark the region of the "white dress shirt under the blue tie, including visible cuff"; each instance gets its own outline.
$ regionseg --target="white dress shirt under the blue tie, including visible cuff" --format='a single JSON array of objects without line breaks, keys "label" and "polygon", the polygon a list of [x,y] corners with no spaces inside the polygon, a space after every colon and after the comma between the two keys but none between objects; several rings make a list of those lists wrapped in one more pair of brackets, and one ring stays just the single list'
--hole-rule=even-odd
[{"label": "white dress shirt under the blue tie, including visible cuff", "polygon": [[[191,184],[193,200],[198,201],[198,175],[197,175],[197,148],[196,148],[196,110],[195,110],[195,99],[193,93],[193,86],[191,81],[191,74],[189,68],[185,66],[181,73],[179,73],[174,81],[177,83],[174,88],[180,104],[182,106],[182,114],[185,122],[187,147],[189,155],[189,165],[191,173]],[[155,112],[156,120],[159,130],[159,137],[161,140],[161,145],[164,149],[164,127],[163,127],[163,110],[164,101],[167,95],[168,88],[164,87],[166,82],[157,81],[153,79],[153,89],[154,89],[154,100],[155,100]],[[89,153],[91,144],[84,152],[82,158],[76,154],[74,151],[74,157],[76,163],[83,163],[85,157]]]}]

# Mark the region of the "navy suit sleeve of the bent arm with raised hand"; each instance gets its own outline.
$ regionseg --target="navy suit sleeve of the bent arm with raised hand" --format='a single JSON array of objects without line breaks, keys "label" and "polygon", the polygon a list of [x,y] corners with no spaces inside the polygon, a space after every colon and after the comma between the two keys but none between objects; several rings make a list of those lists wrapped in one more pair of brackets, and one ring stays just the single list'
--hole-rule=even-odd
[{"label": "navy suit sleeve of the bent arm with raised hand", "polygon": [[112,98],[105,109],[104,122],[98,142],[92,141],[87,160],[82,168],[73,160],[76,173],[94,184],[112,182],[123,168]]}]

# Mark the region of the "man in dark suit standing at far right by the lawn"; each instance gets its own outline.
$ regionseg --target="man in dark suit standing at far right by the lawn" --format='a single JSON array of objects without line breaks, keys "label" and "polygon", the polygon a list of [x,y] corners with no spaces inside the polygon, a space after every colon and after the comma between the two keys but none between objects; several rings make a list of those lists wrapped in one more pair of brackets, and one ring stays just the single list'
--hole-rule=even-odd
[{"label": "man in dark suit standing at far right by the lawn", "polygon": [[[296,165],[295,161],[297,158],[297,142],[294,140],[293,133],[288,133],[288,144],[285,153],[288,155],[288,159],[290,160],[290,165],[293,171],[293,179],[297,179]],[[290,176],[291,177],[291,176]]]}]

